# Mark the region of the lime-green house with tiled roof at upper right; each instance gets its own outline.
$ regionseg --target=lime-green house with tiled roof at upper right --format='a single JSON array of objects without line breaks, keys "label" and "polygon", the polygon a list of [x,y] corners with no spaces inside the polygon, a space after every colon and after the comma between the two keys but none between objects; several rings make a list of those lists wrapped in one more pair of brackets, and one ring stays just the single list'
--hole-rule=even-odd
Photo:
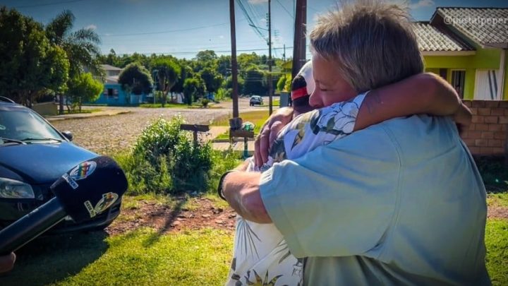
[{"label": "lime-green house with tiled roof at upper right", "polygon": [[425,71],[467,100],[508,100],[508,8],[438,7],[415,23]]}]

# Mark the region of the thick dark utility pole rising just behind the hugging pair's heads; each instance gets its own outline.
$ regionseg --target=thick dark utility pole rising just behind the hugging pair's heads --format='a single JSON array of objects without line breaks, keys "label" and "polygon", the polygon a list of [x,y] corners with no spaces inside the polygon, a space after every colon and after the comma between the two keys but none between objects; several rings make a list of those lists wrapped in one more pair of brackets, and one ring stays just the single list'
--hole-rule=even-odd
[{"label": "thick dark utility pole rising just behind the hugging pair's heads", "polygon": [[295,29],[293,42],[293,67],[291,78],[295,78],[306,59],[307,0],[296,0]]}]

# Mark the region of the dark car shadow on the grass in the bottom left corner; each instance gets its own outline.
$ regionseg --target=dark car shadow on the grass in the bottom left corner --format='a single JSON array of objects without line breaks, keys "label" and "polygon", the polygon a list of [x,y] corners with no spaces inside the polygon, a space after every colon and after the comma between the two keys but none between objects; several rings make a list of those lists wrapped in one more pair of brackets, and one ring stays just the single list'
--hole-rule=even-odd
[{"label": "dark car shadow on the grass in the bottom left corner", "polygon": [[76,232],[40,237],[16,251],[16,266],[0,285],[48,285],[79,273],[106,252],[108,234]]}]

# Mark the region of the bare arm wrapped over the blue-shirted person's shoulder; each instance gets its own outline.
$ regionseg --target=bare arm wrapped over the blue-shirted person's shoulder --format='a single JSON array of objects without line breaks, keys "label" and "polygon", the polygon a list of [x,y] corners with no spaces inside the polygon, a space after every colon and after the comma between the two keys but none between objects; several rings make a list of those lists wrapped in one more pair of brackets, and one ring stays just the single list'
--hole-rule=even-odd
[{"label": "bare arm wrapped over the blue-shirted person's shoulder", "polygon": [[370,91],[360,107],[354,130],[394,117],[421,113],[452,115],[461,125],[471,122],[471,111],[461,102],[452,85],[433,73],[420,73]]}]

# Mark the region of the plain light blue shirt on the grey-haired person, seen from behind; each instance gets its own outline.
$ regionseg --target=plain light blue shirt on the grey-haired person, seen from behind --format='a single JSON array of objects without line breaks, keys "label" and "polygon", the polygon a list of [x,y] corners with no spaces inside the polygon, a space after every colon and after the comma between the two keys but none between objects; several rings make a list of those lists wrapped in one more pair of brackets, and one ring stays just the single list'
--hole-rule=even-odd
[{"label": "plain light blue shirt on the grey-haired person, seen from behind", "polygon": [[488,285],[485,186],[454,123],[397,118],[262,174],[306,285]]}]

